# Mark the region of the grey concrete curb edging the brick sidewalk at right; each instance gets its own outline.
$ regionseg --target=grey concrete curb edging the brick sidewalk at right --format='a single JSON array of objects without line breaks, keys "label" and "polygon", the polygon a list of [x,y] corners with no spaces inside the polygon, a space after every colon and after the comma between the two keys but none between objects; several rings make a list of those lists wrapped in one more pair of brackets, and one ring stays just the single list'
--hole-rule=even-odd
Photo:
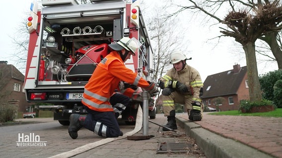
[{"label": "grey concrete curb edging the brick sidewalk at right", "polygon": [[274,158],[257,149],[224,138],[187,119],[176,117],[178,125],[194,138],[207,158]]}]

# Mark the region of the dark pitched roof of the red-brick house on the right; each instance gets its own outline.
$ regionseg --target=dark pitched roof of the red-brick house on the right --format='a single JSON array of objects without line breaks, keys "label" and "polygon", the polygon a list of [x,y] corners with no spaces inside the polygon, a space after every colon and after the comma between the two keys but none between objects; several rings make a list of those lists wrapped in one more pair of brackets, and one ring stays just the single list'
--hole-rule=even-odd
[{"label": "dark pitched roof of the red-brick house on the right", "polygon": [[204,82],[203,98],[236,94],[247,73],[247,66],[234,65],[232,70],[213,74]]}]

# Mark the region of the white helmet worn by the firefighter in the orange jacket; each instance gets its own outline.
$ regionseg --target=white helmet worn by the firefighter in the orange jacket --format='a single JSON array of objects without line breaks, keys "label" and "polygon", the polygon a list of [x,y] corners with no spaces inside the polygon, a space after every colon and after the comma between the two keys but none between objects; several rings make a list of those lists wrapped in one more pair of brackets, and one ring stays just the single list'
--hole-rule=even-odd
[{"label": "white helmet worn by the firefighter in the orange jacket", "polygon": [[122,49],[126,49],[128,51],[132,51],[133,55],[135,56],[135,52],[137,51],[137,49],[141,46],[142,44],[136,40],[135,38],[128,38],[128,37],[124,37],[122,38],[120,41],[113,43],[113,44],[109,44],[109,47],[111,47],[114,50],[122,50]]}]

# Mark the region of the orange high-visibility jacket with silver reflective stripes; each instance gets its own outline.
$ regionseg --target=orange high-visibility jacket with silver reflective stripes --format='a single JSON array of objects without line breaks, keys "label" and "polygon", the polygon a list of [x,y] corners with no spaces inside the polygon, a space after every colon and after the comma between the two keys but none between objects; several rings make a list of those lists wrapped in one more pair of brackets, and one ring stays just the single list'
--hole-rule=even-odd
[{"label": "orange high-visibility jacket with silver reflective stripes", "polygon": [[121,80],[140,87],[149,86],[145,79],[125,66],[117,51],[112,51],[97,65],[84,86],[81,102],[91,110],[113,111],[109,100]]}]

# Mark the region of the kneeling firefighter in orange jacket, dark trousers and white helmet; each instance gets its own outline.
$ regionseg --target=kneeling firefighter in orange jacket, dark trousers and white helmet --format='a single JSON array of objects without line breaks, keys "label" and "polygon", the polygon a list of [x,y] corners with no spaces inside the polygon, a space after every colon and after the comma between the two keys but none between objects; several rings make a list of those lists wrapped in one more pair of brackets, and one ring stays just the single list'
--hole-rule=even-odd
[{"label": "kneeling firefighter in orange jacket, dark trousers and white helmet", "polygon": [[84,87],[82,103],[86,106],[88,115],[70,115],[69,134],[72,139],[77,138],[77,131],[82,126],[107,138],[123,135],[114,111],[122,111],[125,106],[121,103],[113,106],[110,104],[110,98],[121,80],[143,87],[150,94],[158,91],[153,82],[149,84],[124,64],[131,55],[135,56],[139,46],[141,43],[138,40],[127,37],[109,44],[113,51],[97,65]]}]

